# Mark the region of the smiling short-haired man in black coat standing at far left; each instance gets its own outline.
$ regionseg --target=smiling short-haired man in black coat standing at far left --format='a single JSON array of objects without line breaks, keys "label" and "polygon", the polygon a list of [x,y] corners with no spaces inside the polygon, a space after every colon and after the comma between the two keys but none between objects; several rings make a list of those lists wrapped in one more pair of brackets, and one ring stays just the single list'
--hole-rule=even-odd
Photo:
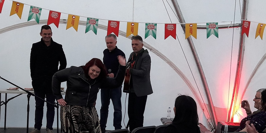
[{"label": "smiling short-haired man in black coat standing at far left", "polygon": [[[40,32],[41,41],[33,43],[30,53],[30,76],[36,96],[54,103],[52,92],[52,77],[57,71],[67,67],[67,59],[61,44],[53,41],[52,30],[48,25],[43,25]],[[58,65],[60,62],[60,67]],[[44,101],[35,97],[35,125],[31,133],[40,133],[43,120]],[[47,103],[46,131],[53,130],[54,106]]]}]

